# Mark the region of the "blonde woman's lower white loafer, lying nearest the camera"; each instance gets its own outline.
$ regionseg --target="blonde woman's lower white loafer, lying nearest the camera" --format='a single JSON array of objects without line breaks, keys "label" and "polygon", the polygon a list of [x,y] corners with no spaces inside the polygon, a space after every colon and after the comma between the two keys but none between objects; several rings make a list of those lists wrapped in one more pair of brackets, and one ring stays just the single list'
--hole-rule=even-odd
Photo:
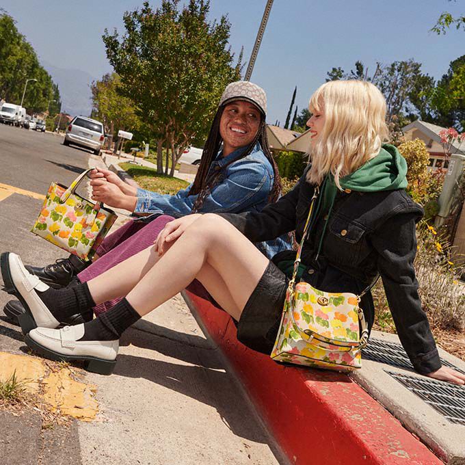
[{"label": "blonde woman's lower white loafer, lying nearest the camera", "polygon": [[65,326],[61,330],[36,328],[26,335],[28,347],[51,360],[83,361],[88,371],[110,375],[116,364],[119,341],[79,341],[84,325]]}]

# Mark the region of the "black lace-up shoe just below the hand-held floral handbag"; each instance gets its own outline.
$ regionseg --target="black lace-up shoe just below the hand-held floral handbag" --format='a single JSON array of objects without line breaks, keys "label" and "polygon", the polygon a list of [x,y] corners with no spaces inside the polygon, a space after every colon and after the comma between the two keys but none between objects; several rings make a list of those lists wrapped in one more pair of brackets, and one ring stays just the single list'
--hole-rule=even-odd
[{"label": "black lace-up shoe just below the hand-held floral handbag", "polygon": [[90,261],[83,261],[81,258],[71,254],[68,258],[59,258],[55,263],[43,268],[26,265],[29,273],[36,275],[42,282],[54,289],[61,289],[68,286],[72,278],[90,265]]}]

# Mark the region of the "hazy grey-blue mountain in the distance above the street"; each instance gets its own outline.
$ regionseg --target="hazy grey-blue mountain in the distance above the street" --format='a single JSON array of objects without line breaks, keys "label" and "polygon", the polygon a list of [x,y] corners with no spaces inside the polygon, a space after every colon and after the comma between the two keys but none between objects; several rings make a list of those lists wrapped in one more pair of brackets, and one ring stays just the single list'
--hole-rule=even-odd
[{"label": "hazy grey-blue mountain in the distance above the street", "polygon": [[53,82],[58,84],[62,111],[66,111],[71,116],[90,116],[92,111],[90,84],[96,81],[96,78],[88,72],[57,68],[49,62],[42,61],[42,66],[49,72]]}]

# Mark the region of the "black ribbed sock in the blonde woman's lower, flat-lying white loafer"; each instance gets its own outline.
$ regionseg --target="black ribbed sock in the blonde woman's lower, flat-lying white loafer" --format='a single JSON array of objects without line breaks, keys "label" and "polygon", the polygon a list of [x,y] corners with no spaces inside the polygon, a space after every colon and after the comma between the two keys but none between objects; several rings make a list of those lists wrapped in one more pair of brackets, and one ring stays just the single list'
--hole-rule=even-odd
[{"label": "black ribbed sock in the blonde woman's lower, flat-lying white loafer", "polygon": [[85,332],[79,341],[116,341],[129,326],[140,318],[139,313],[124,298],[111,310],[84,323]]}]

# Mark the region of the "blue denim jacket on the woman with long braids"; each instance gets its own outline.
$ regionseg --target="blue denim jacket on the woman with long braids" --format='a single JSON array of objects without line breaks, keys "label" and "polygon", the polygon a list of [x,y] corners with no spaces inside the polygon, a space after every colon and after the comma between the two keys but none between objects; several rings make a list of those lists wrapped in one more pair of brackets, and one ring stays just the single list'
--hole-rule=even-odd
[{"label": "blue denim jacket on the woman with long braids", "polygon": [[[258,212],[268,203],[274,181],[271,163],[265,157],[260,144],[256,144],[247,157],[240,158],[244,150],[245,147],[238,148],[226,157],[220,151],[211,163],[210,170],[222,170],[222,177],[205,198],[199,213]],[[189,215],[198,197],[198,194],[189,196],[190,189],[191,185],[174,196],[137,189],[134,213],[163,213],[174,217]],[[269,258],[282,250],[291,249],[287,235],[256,243],[256,246]]]}]

